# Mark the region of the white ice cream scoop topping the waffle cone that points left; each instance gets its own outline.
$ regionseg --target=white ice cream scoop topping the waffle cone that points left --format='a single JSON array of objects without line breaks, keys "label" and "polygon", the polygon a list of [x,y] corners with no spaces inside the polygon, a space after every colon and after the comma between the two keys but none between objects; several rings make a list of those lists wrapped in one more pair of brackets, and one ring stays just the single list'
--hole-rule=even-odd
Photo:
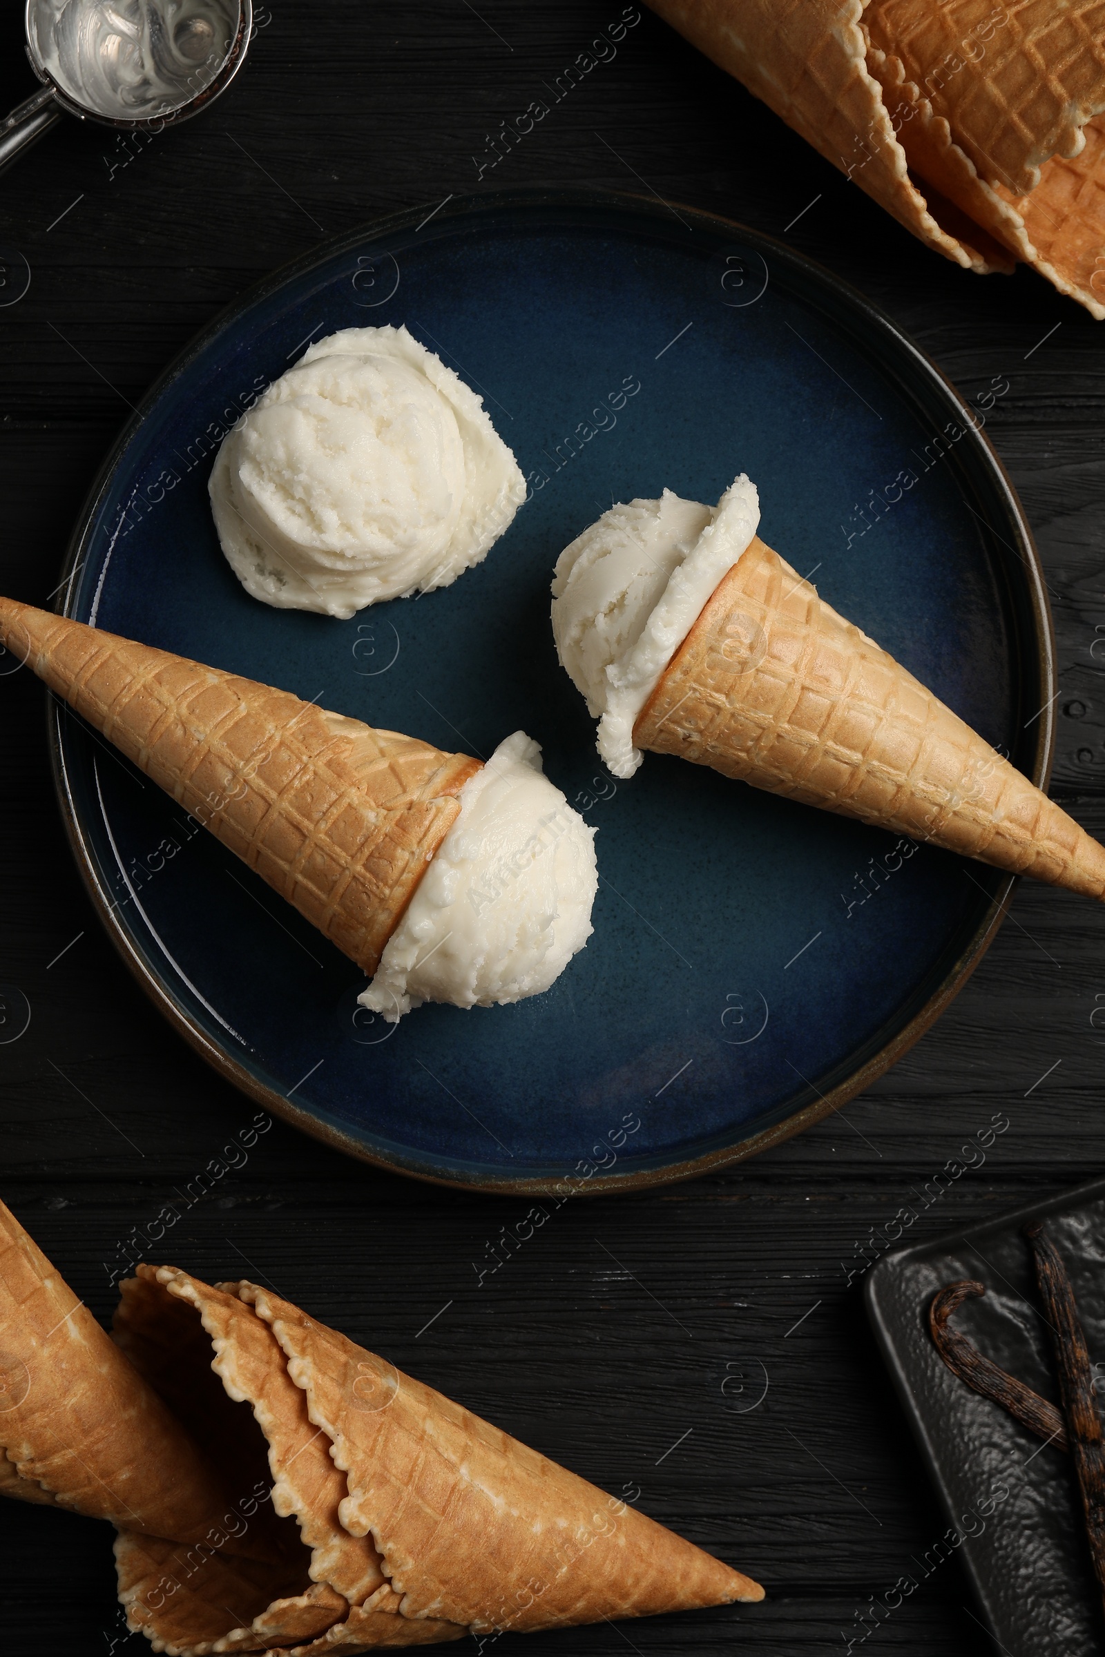
[{"label": "white ice cream scoop topping the waffle cone that points left", "polygon": [[461,789],[441,842],[359,996],[394,1024],[424,1001],[538,996],[591,936],[595,830],[542,774],[524,731]]}]

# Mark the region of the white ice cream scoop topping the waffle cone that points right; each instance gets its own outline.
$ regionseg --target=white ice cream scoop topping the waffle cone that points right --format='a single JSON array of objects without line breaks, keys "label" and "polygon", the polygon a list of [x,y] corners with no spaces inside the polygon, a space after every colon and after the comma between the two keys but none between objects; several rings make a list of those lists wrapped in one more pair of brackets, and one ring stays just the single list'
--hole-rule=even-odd
[{"label": "white ice cream scoop topping the waffle cone that points right", "polygon": [[615,777],[641,764],[636,717],[759,520],[755,484],[741,474],[716,507],[669,489],[610,507],[557,558],[557,655],[600,716],[598,752]]}]

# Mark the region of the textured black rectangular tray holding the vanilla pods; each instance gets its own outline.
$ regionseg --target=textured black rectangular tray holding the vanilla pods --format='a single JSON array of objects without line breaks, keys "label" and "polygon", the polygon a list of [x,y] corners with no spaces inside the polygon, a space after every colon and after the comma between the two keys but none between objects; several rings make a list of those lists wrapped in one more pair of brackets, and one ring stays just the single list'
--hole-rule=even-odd
[{"label": "textured black rectangular tray holding the vanilla pods", "polygon": [[1009,1374],[1059,1400],[1050,1332],[1021,1236],[1029,1220],[1047,1220],[1067,1264],[1105,1399],[1105,1180],[886,1254],[868,1274],[868,1316],[948,1514],[924,1554],[903,1561],[906,1581],[896,1592],[901,1602],[910,1581],[919,1587],[958,1553],[1009,1657],[1100,1657],[1105,1617],[1070,1458],[956,1380],[928,1331],[933,1294],[976,1278],[987,1292],[969,1299],[954,1326]]}]

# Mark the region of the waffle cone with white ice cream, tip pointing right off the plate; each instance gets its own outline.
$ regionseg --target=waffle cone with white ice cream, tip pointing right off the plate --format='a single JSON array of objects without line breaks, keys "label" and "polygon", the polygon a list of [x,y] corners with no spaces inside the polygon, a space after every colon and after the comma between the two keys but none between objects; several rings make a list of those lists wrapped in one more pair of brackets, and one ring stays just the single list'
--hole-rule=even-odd
[{"label": "waffle cone with white ice cream, tip pointing right off the plate", "polygon": [[755,535],[716,509],[611,507],[557,563],[562,664],[630,777],[641,749],[1093,898],[1105,848]]}]

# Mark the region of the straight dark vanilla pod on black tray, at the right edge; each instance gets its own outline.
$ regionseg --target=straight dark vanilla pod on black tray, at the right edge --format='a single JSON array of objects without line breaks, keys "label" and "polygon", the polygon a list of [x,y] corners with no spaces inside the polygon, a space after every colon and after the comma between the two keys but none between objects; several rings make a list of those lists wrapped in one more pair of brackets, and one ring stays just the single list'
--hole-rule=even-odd
[{"label": "straight dark vanilla pod on black tray, at the right edge", "polygon": [[1078,1319],[1074,1287],[1059,1249],[1039,1220],[1025,1226],[1024,1234],[1032,1244],[1035,1281],[1052,1327],[1070,1455],[1078,1475],[1093,1571],[1105,1599],[1105,1440],[1102,1435],[1102,1417],[1098,1415],[1093,1395],[1090,1354]]}]

